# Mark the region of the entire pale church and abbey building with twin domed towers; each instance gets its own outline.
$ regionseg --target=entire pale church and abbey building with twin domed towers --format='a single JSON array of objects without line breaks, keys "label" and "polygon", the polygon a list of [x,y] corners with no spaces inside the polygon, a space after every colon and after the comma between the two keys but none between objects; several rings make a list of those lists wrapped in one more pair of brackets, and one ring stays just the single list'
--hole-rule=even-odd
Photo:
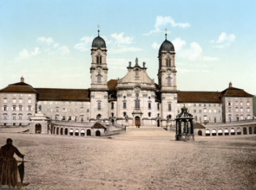
[{"label": "entire pale church and abbey building with twin domed towers", "polygon": [[107,47],[100,35],[92,41],[89,89],[36,88],[21,81],[0,91],[0,126],[29,125],[38,106],[50,120],[109,121],[126,126],[174,124],[184,105],[196,123],[233,123],[253,119],[253,95],[233,87],[222,92],[181,92],[176,83],[174,45],[162,42],[158,84],[145,62],[128,63],[121,79],[108,80]]}]

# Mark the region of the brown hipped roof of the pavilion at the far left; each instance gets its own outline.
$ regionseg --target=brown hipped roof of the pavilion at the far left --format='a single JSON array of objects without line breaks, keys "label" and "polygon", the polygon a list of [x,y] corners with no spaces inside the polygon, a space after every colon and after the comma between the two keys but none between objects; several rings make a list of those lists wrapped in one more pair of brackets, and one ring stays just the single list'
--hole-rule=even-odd
[{"label": "brown hipped roof of the pavilion at the far left", "polygon": [[30,93],[36,93],[36,90],[29,84],[24,82],[18,82],[11,85],[8,85],[7,87],[0,90],[0,92],[30,92]]}]

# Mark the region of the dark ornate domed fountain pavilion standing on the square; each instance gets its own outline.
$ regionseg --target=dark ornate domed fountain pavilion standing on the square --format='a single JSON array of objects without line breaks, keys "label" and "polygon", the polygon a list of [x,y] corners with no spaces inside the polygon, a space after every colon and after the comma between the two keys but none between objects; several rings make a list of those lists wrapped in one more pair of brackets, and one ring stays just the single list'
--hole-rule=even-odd
[{"label": "dark ornate domed fountain pavilion standing on the square", "polygon": [[194,140],[193,115],[187,112],[187,108],[181,108],[181,113],[176,116],[176,141]]}]

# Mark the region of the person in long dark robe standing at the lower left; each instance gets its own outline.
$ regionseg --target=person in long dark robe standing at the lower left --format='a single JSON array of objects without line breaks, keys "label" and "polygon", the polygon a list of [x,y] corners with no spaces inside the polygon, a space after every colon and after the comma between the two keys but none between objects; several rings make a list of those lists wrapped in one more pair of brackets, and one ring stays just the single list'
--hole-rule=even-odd
[{"label": "person in long dark robe standing at the lower left", "polygon": [[12,145],[12,140],[7,139],[6,145],[0,149],[0,185],[8,185],[15,187],[17,185],[17,163],[13,157],[14,153],[23,158],[15,146]]}]

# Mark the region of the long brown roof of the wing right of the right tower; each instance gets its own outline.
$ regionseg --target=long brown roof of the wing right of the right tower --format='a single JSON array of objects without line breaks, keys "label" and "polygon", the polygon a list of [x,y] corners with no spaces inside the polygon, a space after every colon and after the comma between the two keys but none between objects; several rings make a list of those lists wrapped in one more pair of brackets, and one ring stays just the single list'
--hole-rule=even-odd
[{"label": "long brown roof of the wing right of the right tower", "polygon": [[178,92],[178,103],[221,103],[221,92]]}]

